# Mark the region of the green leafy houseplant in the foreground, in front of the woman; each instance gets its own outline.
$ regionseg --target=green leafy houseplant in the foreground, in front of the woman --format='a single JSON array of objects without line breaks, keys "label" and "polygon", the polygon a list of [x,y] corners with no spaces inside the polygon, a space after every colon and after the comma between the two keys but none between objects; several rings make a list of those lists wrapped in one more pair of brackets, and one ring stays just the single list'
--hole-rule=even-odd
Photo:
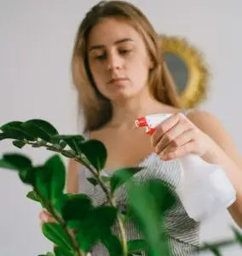
[{"label": "green leafy houseplant in the foreground, in front of the woman", "polygon": [[[46,256],[84,256],[96,242],[107,247],[111,256],[141,255],[141,251],[150,256],[172,256],[165,228],[160,229],[164,225],[164,212],[176,203],[168,184],[155,179],[142,184],[135,182],[133,176],[141,167],[118,169],[112,177],[102,177],[107,149],[100,141],[62,135],[43,119],[11,121],[0,129],[0,140],[9,139],[17,148],[28,145],[55,152],[38,166],[33,166],[25,154],[16,152],[3,154],[0,160],[0,167],[16,171],[20,181],[32,188],[27,198],[40,203],[56,220],[42,226],[43,236],[55,244],[54,252]],[[107,196],[106,204],[95,206],[87,195],[65,193],[66,170],[60,156],[78,161],[91,172],[89,183],[101,187]],[[123,185],[128,190],[128,210],[119,212],[115,193]],[[142,231],[142,240],[126,240],[127,218],[132,218]],[[118,235],[112,232],[113,224],[118,224]],[[233,241],[206,244],[201,250],[221,255],[221,246],[242,243],[239,231],[233,231]]]}]

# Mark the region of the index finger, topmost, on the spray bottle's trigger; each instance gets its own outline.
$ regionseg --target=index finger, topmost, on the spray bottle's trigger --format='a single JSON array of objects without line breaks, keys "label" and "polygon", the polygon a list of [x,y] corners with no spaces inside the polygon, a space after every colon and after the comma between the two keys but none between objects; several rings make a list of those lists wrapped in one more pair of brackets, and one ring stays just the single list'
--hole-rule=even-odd
[{"label": "index finger, topmost, on the spray bottle's trigger", "polygon": [[159,139],[164,135],[165,132],[170,131],[174,126],[176,126],[181,119],[180,114],[174,114],[170,116],[169,119],[164,120],[162,124],[156,126],[155,131],[151,137],[151,143],[155,147]]}]

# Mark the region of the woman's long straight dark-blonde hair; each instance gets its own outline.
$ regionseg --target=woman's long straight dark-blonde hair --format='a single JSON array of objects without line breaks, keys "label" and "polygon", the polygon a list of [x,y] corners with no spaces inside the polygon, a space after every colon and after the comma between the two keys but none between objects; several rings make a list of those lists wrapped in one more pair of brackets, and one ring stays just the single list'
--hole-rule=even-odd
[{"label": "woman's long straight dark-blonde hair", "polygon": [[101,1],[89,10],[79,26],[72,54],[72,79],[78,90],[79,109],[84,114],[85,131],[101,128],[112,117],[111,102],[101,96],[96,89],[89,71],[87,55],[87,40],[90,30],[102,18],[107,17],[127,20],[140,32],[153,61],[153,69],[149,74],[148,81],[152,96],[158,102],[178,108],[180,106],[176,86],[163,60],[161,39],[154,31],[149,20],[147,20],[147,17],[132,3]]}]

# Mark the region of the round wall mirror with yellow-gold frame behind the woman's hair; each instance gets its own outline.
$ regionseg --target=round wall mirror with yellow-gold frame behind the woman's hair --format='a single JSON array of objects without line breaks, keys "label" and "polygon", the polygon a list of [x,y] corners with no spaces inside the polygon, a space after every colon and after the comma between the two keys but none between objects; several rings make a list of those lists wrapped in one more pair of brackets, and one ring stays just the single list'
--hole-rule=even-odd
[{"label": "round wall mirror with yellow-gold frame behind the woman's hair", "polygon": [[205,100],[209,73],[204,58],[185,38],[161,35],[164,61],[176,83],[182,108],[194,108]]}]

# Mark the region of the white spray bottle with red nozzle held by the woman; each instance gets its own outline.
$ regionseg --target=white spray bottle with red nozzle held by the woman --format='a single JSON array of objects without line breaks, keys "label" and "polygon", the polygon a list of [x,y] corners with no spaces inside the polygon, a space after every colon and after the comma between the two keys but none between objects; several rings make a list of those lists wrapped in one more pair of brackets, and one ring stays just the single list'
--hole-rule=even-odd
[{"label": "white spray bottle with red nozzle held by the woman", "polygon": [[[135,120],[136,127],[145,127],[153,134],[155,127],[170,113],[148,115]],[[187,154],[178,159],[182,176],[176,188],[187,215],[195,221],[204,221],[225,210],[236,200],[236,191],[221,166],[212,165],[197,154]]]}]

